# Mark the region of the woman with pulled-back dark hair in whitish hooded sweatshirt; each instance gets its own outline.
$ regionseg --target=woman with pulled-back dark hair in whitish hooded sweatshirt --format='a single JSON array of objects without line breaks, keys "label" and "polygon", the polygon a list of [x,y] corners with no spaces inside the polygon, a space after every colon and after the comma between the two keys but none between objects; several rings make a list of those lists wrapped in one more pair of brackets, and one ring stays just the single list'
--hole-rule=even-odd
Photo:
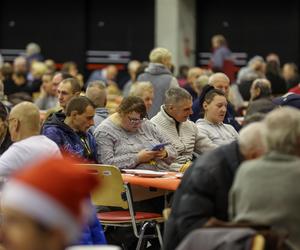
[{"label": "woman with pulled-back dark hair in whitish hooded sweatshirt", "polygon": [[237,139],[236,130],[231,125],[223,123],[227,111],[227,100],[223,91],[210,90],[205,95],[202,106],[204,119],[199,119],[196,122],[201,134],[206,135],[216,146]]}]

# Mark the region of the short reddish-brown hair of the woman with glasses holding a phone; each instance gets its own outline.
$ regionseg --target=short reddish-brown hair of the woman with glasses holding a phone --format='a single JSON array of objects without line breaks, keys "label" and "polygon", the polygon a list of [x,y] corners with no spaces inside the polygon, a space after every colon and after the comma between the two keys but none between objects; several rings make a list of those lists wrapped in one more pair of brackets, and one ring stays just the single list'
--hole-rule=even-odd
[{"label": "short reddish-brown hair of the woman with glasses holding a phone", "polygon": [[145,103],[142,98],[137,96],[125,97],[120,103],[117,111],[119,114],[137,112],[141,115],[141,118],[145,118],[147,116]]}]

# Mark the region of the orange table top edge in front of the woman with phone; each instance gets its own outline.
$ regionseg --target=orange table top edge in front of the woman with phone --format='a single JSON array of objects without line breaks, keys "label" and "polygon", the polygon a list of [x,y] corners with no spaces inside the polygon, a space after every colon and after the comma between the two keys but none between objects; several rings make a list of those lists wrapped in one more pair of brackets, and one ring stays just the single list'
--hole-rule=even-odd
[{"label": "orange table top edge in front of the woman with phone", "polygon": [[169,173],[163,177],[140,177],[131,174],[122,174],[123,181],[142,187],[153,187],[175,191],[180,184],[180,179],[175,177],[175,173]]}]

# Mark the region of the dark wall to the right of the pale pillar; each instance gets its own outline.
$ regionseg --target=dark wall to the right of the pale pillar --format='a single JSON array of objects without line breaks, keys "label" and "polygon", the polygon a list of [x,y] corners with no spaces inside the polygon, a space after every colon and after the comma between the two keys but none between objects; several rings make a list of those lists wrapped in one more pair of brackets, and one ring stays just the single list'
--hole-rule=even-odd
[{"label": "dark wall to the right of the pale pillar", "polygon": [[211,37],[223,34],[234,52],[299,64],[299,2],[197,1],[197,52],[211,51]]}]

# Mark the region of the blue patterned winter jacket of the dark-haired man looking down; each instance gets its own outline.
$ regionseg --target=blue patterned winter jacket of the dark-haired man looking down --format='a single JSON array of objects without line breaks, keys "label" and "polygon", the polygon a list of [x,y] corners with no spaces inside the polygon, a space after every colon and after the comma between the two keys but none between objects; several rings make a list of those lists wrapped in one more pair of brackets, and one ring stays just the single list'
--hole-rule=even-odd
[{"label": "blue patterned winter jacket of the dark-haired man looking down", "polygon": [[97,144],[91,132],[85,133],[90,149],[91,159],[86,159],[84,155],[84,145],[77,133],[64,123],[66,116],[59,111],[54,113],[43,125],[42,134],[54,141],[62,152],[78,156],[81,159],[97,163]]}]

